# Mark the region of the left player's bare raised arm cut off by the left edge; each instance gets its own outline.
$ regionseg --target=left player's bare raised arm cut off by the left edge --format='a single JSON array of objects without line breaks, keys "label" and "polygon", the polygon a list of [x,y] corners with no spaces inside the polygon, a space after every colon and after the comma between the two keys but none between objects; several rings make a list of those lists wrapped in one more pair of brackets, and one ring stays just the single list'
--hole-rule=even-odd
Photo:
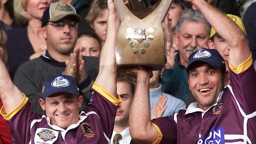
[{"label": "left player's bare raised arm cut off by the left edge", "polygon": [[11,81],[2,60],[0,60],[0,98],[6,114],[13,111],[23,99],[22,92]]}]

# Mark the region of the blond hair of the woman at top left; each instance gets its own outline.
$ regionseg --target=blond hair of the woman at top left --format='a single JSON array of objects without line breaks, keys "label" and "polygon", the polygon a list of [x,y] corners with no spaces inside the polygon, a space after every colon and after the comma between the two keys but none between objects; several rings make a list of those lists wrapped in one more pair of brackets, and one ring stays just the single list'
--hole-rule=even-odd
[{"label": "blond hair of the woman at top left", "polygon": [[29,14],[25,10],[28,0],[14,0],[13,12],[18,24],[26,25],[28,23]]}]

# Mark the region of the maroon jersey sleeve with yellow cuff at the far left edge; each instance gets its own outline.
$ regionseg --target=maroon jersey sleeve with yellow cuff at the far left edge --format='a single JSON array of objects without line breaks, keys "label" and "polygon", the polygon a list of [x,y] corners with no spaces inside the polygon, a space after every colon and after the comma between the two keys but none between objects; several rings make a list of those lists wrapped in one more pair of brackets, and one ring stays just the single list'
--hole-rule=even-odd
[{"label": "maroon jersey sleeve with yellow cuff at the far left edge", "polygon": [[35,118],[28,97],[23,94],[22,102],[13,111],[6,114],[3,106],[0,113],[9,125],[13,143],[28,144],[31,139],[30,124]]}]

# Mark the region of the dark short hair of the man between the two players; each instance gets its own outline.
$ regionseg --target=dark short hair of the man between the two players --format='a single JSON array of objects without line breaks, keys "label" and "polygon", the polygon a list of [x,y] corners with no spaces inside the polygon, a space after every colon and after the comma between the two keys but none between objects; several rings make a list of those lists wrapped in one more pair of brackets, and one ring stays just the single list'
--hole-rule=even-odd
[{"label": "dark short hair of the man between the two players", "polygon": [[129,76],[128,74],[125,74],[124,72],[121,72],[120,70],[117,71],[117,82],[126,82],[130,85],[132,96],[134,95],[135,91],[135,82],[134,78],[132,76]]}]

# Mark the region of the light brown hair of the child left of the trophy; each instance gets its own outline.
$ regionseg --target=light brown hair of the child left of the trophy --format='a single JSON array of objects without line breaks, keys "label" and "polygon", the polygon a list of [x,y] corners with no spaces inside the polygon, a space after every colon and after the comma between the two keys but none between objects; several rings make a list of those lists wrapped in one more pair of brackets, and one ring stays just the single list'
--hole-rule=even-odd
[{"label": "light brown hair of the child left of the trophy", "polygon": [[94,0],[89,8],[89,12],[85,17],[88,24],[93,25],[96,18],[101,14],[102,10],[108,8],[107,0]]}]

